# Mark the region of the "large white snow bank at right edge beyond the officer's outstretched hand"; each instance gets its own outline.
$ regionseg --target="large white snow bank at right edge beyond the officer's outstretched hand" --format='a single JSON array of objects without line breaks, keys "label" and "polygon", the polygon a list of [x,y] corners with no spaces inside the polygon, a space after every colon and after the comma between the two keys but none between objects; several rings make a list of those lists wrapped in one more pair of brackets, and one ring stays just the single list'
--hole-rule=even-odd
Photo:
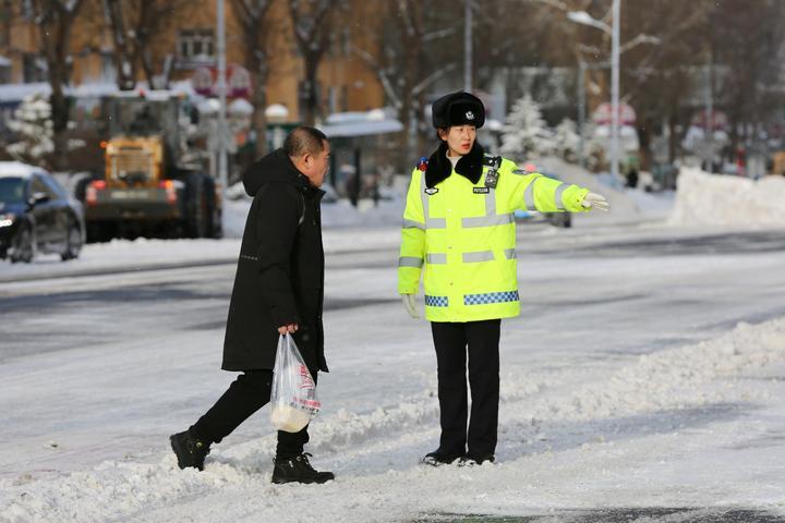
[{"label": "large white snow bank at right edge beyond the officer's outstretched hand", "polygon": [[785,224],[785,177],[758,181],[681,169],[672,224]]}]

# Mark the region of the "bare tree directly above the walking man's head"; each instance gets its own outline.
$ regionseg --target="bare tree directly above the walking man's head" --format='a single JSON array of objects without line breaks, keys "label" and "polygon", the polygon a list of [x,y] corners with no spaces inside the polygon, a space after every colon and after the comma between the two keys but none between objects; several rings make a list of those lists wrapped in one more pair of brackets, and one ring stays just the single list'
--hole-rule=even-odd
[{"label": "bare tree directly above the walking man's head", "polygon": [[330,16],[335,14],[338,0],[289,0],[289,14],[294,40],[305,66],[303,93],[304,114],[302,121],[313,125],[321,113],[318,81],[316,73],[329,44],[334,29]]}]

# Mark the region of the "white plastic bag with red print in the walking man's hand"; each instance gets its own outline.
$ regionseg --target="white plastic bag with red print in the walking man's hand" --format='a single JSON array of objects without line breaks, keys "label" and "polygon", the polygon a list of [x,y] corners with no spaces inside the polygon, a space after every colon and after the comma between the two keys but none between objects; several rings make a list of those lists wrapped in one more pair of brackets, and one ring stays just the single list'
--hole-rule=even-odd
[{"label": "white plastic bag with red print in the walking man's hand", "polygon": [[322,409],[316,384],[291,335],[278,338],[270,408],[273,426],[287,433],[302,430]]}]

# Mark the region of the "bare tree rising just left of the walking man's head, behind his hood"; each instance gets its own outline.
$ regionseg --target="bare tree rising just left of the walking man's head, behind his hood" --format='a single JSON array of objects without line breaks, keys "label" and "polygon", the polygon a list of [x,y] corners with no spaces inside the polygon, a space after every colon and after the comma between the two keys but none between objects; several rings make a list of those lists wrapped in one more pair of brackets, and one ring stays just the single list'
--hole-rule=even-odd
[{"label": "bare tree rising just left of the walking man's head, behind his hood", "polygon": [[267,149],[267,78],[269,75],[269,53],[275,27],[270,5],[274,0],[232,0],[243,41],[243,61],[245,69],[253,75],[253,127],[256,132],[256,156]]}]

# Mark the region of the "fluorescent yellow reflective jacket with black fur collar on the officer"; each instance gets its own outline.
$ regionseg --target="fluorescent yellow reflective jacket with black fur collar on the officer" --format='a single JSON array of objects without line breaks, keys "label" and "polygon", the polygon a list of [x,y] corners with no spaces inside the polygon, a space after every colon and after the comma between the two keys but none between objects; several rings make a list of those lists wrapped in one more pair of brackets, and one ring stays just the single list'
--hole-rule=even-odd
[{"label": "fluorescent yellow reflective jacket with black fur collar on the officer", "polygon": [[514,211],[583,211],[588,192],[485,155],[478,145],[454,169],[443,144],[412,172],[401,230],[399,293],[416,293],[422,273],[430,321],[517,316]]}]

